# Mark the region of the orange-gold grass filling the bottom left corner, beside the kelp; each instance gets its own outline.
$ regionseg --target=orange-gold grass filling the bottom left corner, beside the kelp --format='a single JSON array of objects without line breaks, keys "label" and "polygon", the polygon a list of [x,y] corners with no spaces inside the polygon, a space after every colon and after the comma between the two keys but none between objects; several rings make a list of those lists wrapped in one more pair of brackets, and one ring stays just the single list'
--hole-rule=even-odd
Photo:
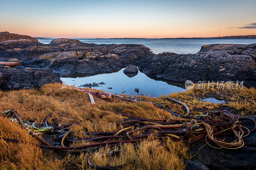
[{"label": "orange-gold grass filling the bottom left corner, beside the kelp", "polygon": [[39,147],[29,143],[6,142],[14,138],[38,143],[16,122],[0,115],[0,169],[64,169],[65,159],[45,158]]}]

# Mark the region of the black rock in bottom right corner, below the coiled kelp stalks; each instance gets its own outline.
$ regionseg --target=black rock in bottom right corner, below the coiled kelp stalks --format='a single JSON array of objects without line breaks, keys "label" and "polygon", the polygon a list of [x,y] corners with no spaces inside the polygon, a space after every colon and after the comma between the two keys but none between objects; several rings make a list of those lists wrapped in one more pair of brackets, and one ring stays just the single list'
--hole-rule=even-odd
[{"label": "black rock in bottom right corner, below the coiled kelp stalks", "polygon": [[[247,116],[256,120],[256,116]],[[252,121],[241,120],[242,123],[249,129],[254,128]],[[246,131],[246,130],[244,130]],[[226,140],[233,141],[234,137],[225,136]],[[252,132],[247,137],[243,137],[244,146],[240,149],[214,149],[209,145],[205,145],[205,140],[194,142],[191,147],[191,153],[196,154],[198,149],[202,147],[199,153],[192,157],[191,160],[198,161],[207,166],[209,169],[221,170],[252,170],[256,169],[256,132]],[[217,147],[217,146],[216,146]],[[193,154],[192,154],[193,155]]]}]

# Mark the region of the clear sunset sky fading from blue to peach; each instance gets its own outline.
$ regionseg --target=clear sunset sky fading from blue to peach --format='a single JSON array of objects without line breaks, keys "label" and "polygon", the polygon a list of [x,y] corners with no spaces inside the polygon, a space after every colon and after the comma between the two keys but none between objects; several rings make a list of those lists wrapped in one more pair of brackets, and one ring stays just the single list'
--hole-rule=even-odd
[{"label": "clear sunset sky fading from blue to peach", "polygon": [[256,34],[256,0],[0,0],[0,4],[0,31],[33,37],[177,38]]}]

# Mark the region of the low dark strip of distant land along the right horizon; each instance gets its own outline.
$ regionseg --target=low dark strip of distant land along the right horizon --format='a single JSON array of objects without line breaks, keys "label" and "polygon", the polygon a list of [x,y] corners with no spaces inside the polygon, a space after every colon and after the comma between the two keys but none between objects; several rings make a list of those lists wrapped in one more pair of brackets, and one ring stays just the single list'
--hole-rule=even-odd
[{"label": "low dark strip of distant land along the right horizon", "polygon": [[233,35],[233,36],[224,36],[224,37],[193,37],[193,38],[96,38],[96,39],[249,39],[249,38],[255,38],[256,35]]}]

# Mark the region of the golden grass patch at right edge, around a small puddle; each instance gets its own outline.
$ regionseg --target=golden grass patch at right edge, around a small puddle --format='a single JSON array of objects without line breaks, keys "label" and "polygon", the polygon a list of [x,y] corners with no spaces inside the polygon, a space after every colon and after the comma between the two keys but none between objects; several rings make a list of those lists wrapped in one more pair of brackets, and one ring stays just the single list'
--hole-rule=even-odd
[{"label": "golden grass patch at right edge, around a small puddle", "polygon": [[[205,85],[207,87],[208,84]],[[228,108],[230,110],[236,111],[237,115],[255,115],[256,114],[256,89],[255,88],[246,88],[242,89],[216,89],[216,84],[214,88],[209,89],[197,89],[197,85],[186,92],[177,92],[167,95],[175,100],[184,102],[188,106],[192,107],[208,107],[209,109],[216,109],[219,107]],[[202,101],[202,99],[208,97],[219,98],[223,97],[225,103],[211,103]],[[192,108],[193,109],[193,108]]]}]

